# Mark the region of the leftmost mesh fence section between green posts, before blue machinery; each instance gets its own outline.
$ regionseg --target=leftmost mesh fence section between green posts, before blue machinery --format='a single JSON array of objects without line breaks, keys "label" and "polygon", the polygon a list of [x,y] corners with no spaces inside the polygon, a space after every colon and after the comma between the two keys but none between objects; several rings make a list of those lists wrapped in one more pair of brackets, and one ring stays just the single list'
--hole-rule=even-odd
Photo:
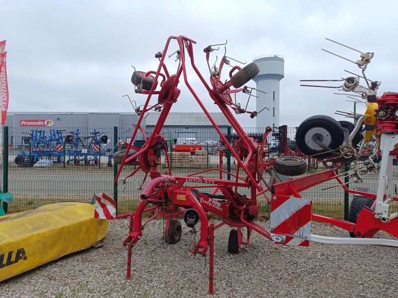
[{"label": "leftmost mesh fence section between green posts, before blue machinery", "polygon": [[112,128],[9,129],[8,212],[111,192],[112,140]]}]

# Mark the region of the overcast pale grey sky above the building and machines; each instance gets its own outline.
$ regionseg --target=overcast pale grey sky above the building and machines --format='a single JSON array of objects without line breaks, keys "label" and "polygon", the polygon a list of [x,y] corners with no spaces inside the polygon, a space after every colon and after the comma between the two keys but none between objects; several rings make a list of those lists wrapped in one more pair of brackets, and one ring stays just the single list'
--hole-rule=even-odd
[{"label": "overcast pale grey sky above the building and machines", "polygon": [[[356,65],[320,50],[359,58],[359,53],[326,41],[328,37],[375,52],[368,77],[382,81],[379,95],[398,90],[397,11],[394,0],[0,0],[0,40],[7,40],[8,52],[8,111],[132,111],[122,95],[129,94],[140,104],[146,97],[133,91],[131,65],[156,70],[154,54],[163,50],[167,38],[185,35],[197,41],[195,60],[206,79],[202,49],[209,44],[227,39],[227,56],[239,61],[282,55],[281,125],[297,126],[315,114],[346,120],[333,113],[352,111],[353,104],[345,102],[348,98],[333,95],[333,89],[300,87],[299,79],[338,79],[348,76],[344,69],[359,73]],[[176,44],[170,50],[177,50]],[[170,68],[176,64],[167,59]],[[192,71],[189,80],[208,111],[217,112]],[[172,111],[200,111],[182,84]],[[253,81],[250,85],[255,87]],[[246,102],[243,94],[239,98]],[[255,109],[254,100],[248,109]],[[255,126],[248,114],[238,120],[242,126]]]}]

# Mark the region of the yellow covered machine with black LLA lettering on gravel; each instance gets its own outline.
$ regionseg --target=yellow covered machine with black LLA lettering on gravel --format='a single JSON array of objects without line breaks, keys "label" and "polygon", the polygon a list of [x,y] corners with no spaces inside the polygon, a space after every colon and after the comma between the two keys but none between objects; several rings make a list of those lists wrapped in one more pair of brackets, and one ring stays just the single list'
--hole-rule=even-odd
[{"label": "yellow covered machine with black LLA lettering on gravel", "polygon": [[0,217],[0,281],[88,248],[107,232],[94,205],[64,202]]}]

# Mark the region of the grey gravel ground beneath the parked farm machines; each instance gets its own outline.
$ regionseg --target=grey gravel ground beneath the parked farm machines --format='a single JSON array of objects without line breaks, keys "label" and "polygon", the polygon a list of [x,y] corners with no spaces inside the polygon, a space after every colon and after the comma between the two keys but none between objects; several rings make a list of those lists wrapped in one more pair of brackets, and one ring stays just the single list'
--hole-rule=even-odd
[{"label": "grey gravel ground beneath the parked farm machines", "polygon": [[[127,249],[121,244],[127,223],[110,221],[100,248],[68,255],[1,283],[0,297],[207,296],[208,257],[188,252],[193,238],[184,224],[181,241],[164,247],[163,221],[147,224],[133,249],[132,278],[127,280]],[[326,224],[313,222],[311,228],[315,234],[347,236]],[[253,232],[246,249],[232,255],[227,252],[228,234],[226,225],[215,231],[213,297],[397,296],[397,248],[315,242],[292,247],[273,244]]]}]

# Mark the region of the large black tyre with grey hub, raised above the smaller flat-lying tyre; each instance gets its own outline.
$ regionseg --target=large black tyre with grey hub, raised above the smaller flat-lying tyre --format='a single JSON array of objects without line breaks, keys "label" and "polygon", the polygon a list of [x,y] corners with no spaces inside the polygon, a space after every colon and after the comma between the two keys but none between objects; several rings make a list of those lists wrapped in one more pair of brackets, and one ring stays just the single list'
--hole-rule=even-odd
[{"label": "large black tyre with grey hub, raised above the smaller flat-lying tyre", "polygon": [[[338,149],[344,141],[341,125],[332,117],[316,115],[305,119],[297,128],[296,142],[305,155],[316,155],[317,158],[327,158],[331,152],[319,147],[318,139],[332,150]],[[322,154],[323,153],[323,154]]]}]

